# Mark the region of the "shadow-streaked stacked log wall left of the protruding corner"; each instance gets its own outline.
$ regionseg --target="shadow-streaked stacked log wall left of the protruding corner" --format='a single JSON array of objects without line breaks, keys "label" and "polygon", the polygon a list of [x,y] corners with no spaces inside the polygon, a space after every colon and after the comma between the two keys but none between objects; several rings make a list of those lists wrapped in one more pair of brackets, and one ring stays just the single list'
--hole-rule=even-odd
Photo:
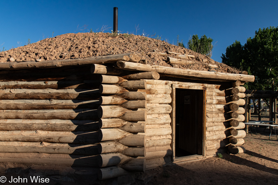
[{"label": "shadow-streaked stacked log wall left of the protruding corner", "polygon": [[98,167],[90,66],[0,71],[0,162]]}]

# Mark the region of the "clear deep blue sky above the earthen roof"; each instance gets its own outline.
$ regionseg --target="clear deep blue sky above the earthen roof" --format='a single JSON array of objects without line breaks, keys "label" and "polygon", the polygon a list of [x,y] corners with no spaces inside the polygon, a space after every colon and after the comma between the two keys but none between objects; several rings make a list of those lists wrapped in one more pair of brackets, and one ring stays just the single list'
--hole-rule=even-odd
[{"label": "clear deep blue sky above the earthen roof", "polygon": [[[176,44],[179,35],[186,44],[193,34],[206,35],[216,43],[212,59],[221,62],[227,46],[246,43],[259,28],[278,26],[277,0],[245,1],[4,1],[0,0],[0,48],[11,49],[43,38],[113,27],[113,7],[119,8],[121,33],[156,33]],[[78,26],[79,25],[79,26]],[[78,27],[77,27],[78,26]],[[98,30],[97,30],[98,29]],[[112,28],[106,32],[110,32]],[[84,30],[85,31],[85,30]],[[86,31],[88,32],[88,30]],[[3,44],[4,43],[4,44]]]}]

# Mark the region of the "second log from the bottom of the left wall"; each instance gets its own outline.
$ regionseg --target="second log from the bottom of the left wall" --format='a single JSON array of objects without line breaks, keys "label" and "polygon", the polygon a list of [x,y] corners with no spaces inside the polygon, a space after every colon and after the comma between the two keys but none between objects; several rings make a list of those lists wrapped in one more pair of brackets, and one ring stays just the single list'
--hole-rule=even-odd
[{"label": "second log from the bottom of the left wall", "polygon": [[73,155],[97,155],[97,145],[67,143],[0,141],[1,152],[6,153],[50,153]]}]

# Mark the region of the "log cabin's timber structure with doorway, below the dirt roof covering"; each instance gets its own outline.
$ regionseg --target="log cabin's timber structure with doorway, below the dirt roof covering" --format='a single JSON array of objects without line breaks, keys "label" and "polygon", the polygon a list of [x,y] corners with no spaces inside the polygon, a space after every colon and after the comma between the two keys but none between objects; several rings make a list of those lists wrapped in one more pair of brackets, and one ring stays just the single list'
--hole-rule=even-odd
[{"label": "log cabin's timber structure with doorway, below the dirt roof covering", "polygon": [[89,167],[104,180],[244,152],[242,85],[253,81],[132,53],[0,63],[0,162]]}]

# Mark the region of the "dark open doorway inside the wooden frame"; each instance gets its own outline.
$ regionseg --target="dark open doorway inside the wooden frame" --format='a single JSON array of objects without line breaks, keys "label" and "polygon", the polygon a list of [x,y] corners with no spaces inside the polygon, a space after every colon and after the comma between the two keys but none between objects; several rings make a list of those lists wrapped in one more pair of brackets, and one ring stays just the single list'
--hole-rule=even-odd
[{"label": "dark open doorway inside the wooden frame", "polygon": [[176,158],[203,155],[204,106],[204,90],[176,88]]}]

